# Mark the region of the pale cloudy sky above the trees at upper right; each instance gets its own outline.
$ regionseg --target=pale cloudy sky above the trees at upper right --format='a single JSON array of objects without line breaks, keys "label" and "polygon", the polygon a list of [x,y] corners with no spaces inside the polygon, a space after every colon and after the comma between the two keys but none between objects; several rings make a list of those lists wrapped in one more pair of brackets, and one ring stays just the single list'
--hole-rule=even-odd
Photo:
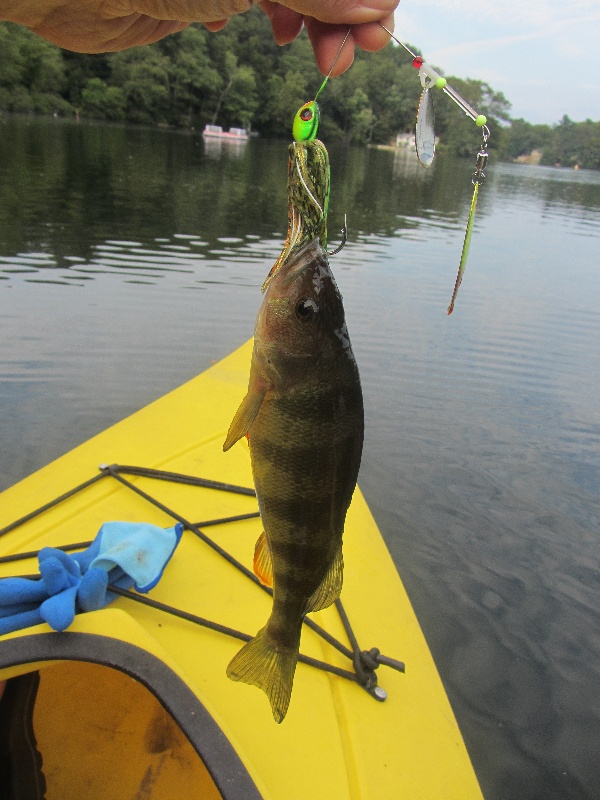
[{"label": "pale cloudy sky above the trees at upper right", "polygon": [[600,121],[600,0],[401,0],[395,20],[445,75],[503,92],[513,118]]}]

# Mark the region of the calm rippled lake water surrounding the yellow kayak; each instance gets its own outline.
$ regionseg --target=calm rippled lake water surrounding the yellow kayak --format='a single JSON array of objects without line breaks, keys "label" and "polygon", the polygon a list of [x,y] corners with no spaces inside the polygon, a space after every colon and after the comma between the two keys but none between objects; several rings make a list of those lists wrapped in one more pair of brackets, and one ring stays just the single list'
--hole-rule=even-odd
[{"label": "calm rippled lake water surrounding the yellow kayak", "polygon": [[[600,173],[330,148],[360,484],[487,800],[600,797]],[[0,488],[252,333],[287,143],[0,117]],[[395,654],[401,657],[400,654]]]}]

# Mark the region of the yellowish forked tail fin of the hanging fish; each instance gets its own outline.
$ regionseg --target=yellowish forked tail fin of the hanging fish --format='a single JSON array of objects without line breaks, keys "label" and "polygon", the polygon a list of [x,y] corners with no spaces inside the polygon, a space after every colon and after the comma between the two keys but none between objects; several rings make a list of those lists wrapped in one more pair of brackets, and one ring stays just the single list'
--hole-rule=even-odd
[{"label": "yellowish forked tail fin of the hanging fish", "polygon": [[262,689],[269,698],[275,722],[282,722],[290,704],[298,648],[277,647],[266,627],[231,659],[227,677]]}]

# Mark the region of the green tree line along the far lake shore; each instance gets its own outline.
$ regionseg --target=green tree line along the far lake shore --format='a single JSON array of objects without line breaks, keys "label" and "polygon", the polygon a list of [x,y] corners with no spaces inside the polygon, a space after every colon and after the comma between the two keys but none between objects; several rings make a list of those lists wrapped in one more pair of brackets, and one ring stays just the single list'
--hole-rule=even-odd
[{"label": "green tree line along the far lake shore", "polygon": [[[100,55],[61,50],[25,28],[0,23],[0,53],[0,112],[195,129],[218,124],[266,137],[289,138],[295,112],[322,81],[306,35],[278,47],[258,9],[233,17],[218,34],[192,25],[148,47]],[[512,120],[509,101],[489,84],[448,80],[487,116],[500,157],[539,150],[542,163],[600,169],[600,122]],[[358,51],[352,68],[321,95],[320,135],[388,144],[414,129],[420,91],[418,71],[402,48]],[[435,94],[440,148],[472,157],[479,130],[445,94]]]}]

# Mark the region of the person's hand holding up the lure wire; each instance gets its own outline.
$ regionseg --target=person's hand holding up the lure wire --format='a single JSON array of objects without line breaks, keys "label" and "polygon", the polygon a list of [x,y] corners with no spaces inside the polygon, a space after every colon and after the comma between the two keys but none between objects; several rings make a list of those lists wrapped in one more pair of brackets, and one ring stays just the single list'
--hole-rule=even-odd
[{"label": "person's hand holding up the lure wire", "polygon": [[[286,0],[285,5],[264,0],[279,44],[291,42],[302,25],[315,50],[320,69],[327,72],[349,26],[352,34],[336,64],[334,75],[353,59],[354,45],[378,50],[388,36],[377,24],[389,27],[399,0]],[[234,14],[248,11],[253,0],[6,0],[2,19],[30,28],[59,47],[80,53],[103,53],[150,44],[202,22],[209,30],[224,27]]]}]

